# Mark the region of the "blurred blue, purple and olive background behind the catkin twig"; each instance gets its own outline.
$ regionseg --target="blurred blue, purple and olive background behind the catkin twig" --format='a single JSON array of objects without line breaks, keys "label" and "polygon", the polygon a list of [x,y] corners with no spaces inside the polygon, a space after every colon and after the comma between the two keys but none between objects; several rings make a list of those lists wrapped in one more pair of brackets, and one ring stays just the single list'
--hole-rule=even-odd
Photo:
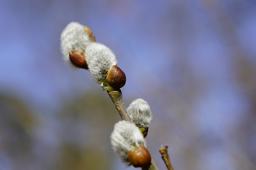
[{"label": "blurred blue, purple and olive background behind the catkin twig", "polygon": [[62,61],[71,21],[116,54],[126,106],[150,104],[160,170],[160,145],[176,170],[256,169],[255,0],[1,0],[0,170],[135,169],[107,93]]}]

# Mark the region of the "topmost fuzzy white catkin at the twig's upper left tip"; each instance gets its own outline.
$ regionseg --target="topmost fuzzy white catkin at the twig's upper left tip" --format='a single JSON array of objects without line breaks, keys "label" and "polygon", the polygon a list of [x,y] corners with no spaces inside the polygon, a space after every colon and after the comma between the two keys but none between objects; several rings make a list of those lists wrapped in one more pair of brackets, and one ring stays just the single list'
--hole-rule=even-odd
[{"label": "topmost fuzzy white catkin at the twig's upper left tip", "polygon": [[69,23],[60,35],[60,46],[64,61],[73,66],[68,51],[77,49],[84,51],[90,43],[92,42],[89,34],[84,29],[84,25],[78,22]]}]

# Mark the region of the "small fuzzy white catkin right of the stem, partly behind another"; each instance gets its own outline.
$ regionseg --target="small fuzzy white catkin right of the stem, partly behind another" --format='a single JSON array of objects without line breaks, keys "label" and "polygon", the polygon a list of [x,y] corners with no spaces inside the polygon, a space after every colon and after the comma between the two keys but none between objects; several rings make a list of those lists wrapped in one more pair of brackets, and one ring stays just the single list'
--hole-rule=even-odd
[{"label": "small fuzzy white catkin right of the stem, partly behind another", "polygon": [[146,128],[150,125],[150,121],[152,120],[152,113],[150,111],[150,106],[145,100],[134,100],[128,106],[127,112],[134,124],[138,127]]}]

